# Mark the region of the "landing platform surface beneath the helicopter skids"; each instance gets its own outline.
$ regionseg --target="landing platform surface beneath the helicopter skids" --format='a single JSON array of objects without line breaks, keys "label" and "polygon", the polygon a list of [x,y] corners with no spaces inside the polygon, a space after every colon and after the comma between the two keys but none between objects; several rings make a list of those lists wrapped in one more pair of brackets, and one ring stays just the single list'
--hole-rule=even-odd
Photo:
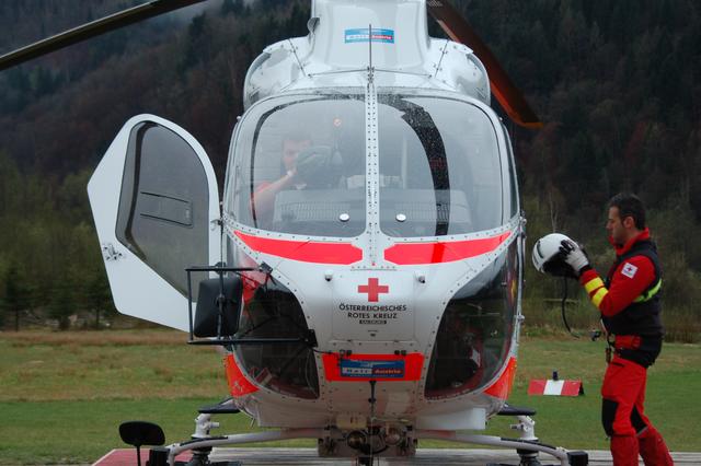
[{"label": "landing platform surface beneath the helicopter skids", "polygon": [[[590,466],[611,466],[611,453],[601,450],[590,450]],[[179,456],[179,461],[187,461],[189,455]],[[673,452],[675,464],[699,465],[701,453]],[[148,450],[141,453],[141,464],[146,464]],[[211,462],[240,462],[241,466],[337,466],[355,465],[348,458],[320,458],[317,448],[214,448],[209,455]],[[540,462],[545,465],[560,465],[560,462],[541,454]],[[376,466],[414,466],[414,465],[461,465],[485,466],[489,464],[518,465],[519,457],[515,452],[506,450],[475,450],[475,448],[420,448],[413,458],[379,458]],[[640,462],[641,466],[643,462]],[[136,465],[135,450],[113,450],[93,466],[133,466]]]}]

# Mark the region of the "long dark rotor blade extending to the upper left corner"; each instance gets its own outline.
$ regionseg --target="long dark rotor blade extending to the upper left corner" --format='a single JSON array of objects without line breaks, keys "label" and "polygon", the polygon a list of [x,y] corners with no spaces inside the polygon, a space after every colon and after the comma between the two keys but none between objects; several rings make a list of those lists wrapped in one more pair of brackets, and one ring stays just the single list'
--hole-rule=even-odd
[{"label": "long dark rotor blade extending to the upper left corner", "polygon": [[152,0],[123,10],[5,54],[0,57],[0,71],[100,34],[203,1],[206,0]]}]

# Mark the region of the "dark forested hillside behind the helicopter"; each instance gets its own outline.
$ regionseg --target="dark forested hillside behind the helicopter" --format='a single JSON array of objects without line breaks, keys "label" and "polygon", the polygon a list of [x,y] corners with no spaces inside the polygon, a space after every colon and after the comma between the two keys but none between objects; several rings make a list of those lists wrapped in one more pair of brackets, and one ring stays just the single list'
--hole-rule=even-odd
[{"label": "dark forested hillside behind the helicopter", "polygon": [[[2,1],[0,53],[134,3]],[[566,232],[587,244],[604,270],[611,259],[605,203],[623,189],[639,193],[666,266],[668,326],[698,334],[701,7],[693,0],[453,4],[544,121],[539,131],[512,126],[530,240]],[[5,327],[15,308],[61,316],[106,306],[84,186],[124,121],[152,113],[183,126],[221,176],[249,63],[265,45],[304,35],[308,18],[307,0],[210,0],[0,73]],[[528,313],[560,291],[527,269]]]}]

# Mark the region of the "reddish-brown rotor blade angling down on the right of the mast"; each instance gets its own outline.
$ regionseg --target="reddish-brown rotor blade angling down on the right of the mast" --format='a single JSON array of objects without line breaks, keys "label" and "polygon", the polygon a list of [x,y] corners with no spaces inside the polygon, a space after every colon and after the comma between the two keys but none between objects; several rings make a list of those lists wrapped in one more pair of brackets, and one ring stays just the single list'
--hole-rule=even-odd
[{"label": "reddish-brown rotor blade angling down on the right of the mast", "polygon": [[490,75],[492,93],[508,116],[526,128],[541,128],[543,126],[542,121],[530,108],[521,92],[508,78],[494,54],[462,16],[445,0],[428,0],[426,5],[430,15],[434,16],[446,34],[452,40],[469,46],[484,63]]}]

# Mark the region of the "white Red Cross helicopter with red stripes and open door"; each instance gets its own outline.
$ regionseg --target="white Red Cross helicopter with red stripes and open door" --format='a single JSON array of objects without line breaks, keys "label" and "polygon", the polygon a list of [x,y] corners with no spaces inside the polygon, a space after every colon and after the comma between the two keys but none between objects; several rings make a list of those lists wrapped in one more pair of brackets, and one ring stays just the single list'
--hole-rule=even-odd
[{"label": "white Red Cross helicopter with red stripes and open door", "polygon": [[[1,68],[199,1],[149,2]],[[428,36],[427,13],[452,40]],[[283,439],[366,465],[423,439],[587,464],[506,404],[525,219],[492,96],[519,125],[538,118],[447,2],[312,0],[308,28],[249,69],[223,199],[197,140],[153,115],[126,123],[88,186],[116,307],[226,352],[231,398],[150,464]],[[210,433],[239,410],[276,430]],[[497,413],[519,439],[463,432]]]}]

